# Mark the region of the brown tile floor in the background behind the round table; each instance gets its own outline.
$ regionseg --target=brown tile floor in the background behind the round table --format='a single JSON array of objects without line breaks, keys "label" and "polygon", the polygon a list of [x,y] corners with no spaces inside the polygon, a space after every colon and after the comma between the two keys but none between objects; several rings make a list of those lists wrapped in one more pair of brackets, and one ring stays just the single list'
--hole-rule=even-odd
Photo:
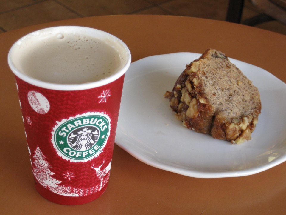
[{"label": "brown tile floor in the background behind the round table", "polygon": [[[44,22],[111,14],[162,14],[225,20],[228,0],[0,0],[0,33]],[[242,21],[261,11],[248,0]],[[255,27],[286,35],[278,21]]]}]

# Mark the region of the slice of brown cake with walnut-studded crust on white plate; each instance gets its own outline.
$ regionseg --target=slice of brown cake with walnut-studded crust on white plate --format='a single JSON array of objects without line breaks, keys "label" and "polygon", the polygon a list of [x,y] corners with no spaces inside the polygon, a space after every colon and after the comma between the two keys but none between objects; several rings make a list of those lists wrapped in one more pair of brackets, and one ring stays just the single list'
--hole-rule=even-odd
[{"label": "slice of brown cake with walnut-studded crust on white plate", "polygon": [[165,97],[184,126],[231,143],[250,140],[261,113],[257,87],[214,49],[186,65]]}]

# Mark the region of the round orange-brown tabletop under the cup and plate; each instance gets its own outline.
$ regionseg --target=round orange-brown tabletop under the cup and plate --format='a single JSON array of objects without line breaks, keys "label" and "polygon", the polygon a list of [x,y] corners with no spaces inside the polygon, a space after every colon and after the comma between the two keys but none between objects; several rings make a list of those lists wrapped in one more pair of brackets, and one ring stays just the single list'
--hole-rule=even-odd
[{"label": "round orange-brown tabletop under the cup and plate", "polygon": [[[62,20],[0,34],[0,214],[286,214],[286,162],[251,176],[199,179],[146,165],[114,147],[109,185],[88,204],[57,205],[35,189],[13,73],[12,44],[32,31],[77,25],[111,33],[132,61],[213,48],[286,82],[286,36],[223,21],[181,16],[116,15]],[[285,99],[285,98],[281,98]]]}]

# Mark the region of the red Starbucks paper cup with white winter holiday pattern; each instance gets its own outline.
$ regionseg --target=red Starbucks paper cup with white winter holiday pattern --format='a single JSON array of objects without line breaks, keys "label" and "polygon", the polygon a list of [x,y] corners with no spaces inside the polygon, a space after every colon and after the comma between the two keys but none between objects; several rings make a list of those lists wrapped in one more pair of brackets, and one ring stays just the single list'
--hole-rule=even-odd
[{"label": "red Starbucks paper cup with white winter holiday pattern", "polygon": [[[94,44],[102,41],[119,54],[118,68],[112,68],[113,71],[100,77],[100,80],[90,77],[107,72],[95,71],[79,83],[76,82],[81,79],[80,75],[66,82],[65,75],[69,71],[56,77],[53,83],[50,79],[38,78],[41,67],[32,68],[35,76],[25,70],[29,68],[25,67],[25,62],[33,64],[34,58],[41,59],[41,53],[45,50],[45,46],[41,45],[46,38],[63,39],[61,36],[69,43],[72,41],[69,37],[74,36],[74,41],[86,38],[97,41]],[[37,43],[36,51],[25,49],[30,42]],[[45,43],[52,44],[53,41]],[[83,44],[77,45],[83,48]],[[88,45],[86,48],[90,48]],[[69,48],[73,53],[77,46]],[[36,57],[31,57],[31,60],[27,55],[33,51]],[[100,54],[102,50],[97,51]],[[85,53],[82,55],[85,57]],[[43,54],[44,62],[40,64],[53,67],[54,61],[47,58]],[[69,64],[74,63],[68,57],[66,60]],[[96,59],[93,61],[100,64]],[[131,62],[128,47],[115,36],[100,30],[75,26],[53,27],[30,33],[17,41],[9,52],[8,62],[16,78],[36,189],[44,198],[62,205],[80,205],[97,199],[108,185],[124,74]],[[82,62],[81,66],[85,66],[85,63]],[[49,73],[49,69],[45,69],[45,73]],[[77,76],[76,69],[71,73]],[[53,73],[50,76],[53,78]],[[86,82],[87,78],[92,81]]]}]

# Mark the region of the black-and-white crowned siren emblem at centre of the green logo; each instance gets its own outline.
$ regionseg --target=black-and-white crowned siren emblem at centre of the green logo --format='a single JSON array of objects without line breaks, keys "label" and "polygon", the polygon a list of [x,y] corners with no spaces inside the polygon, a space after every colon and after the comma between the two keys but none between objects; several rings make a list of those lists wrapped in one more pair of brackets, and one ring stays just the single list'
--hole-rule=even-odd
[{"label": "black-and-white crowned siren emblem at centre of the green logo", "polygon": [[73,130],[69,134],[67,142],[74,150],[85,151],[94,146],[99,137],[100,129],[90,125]]}]

